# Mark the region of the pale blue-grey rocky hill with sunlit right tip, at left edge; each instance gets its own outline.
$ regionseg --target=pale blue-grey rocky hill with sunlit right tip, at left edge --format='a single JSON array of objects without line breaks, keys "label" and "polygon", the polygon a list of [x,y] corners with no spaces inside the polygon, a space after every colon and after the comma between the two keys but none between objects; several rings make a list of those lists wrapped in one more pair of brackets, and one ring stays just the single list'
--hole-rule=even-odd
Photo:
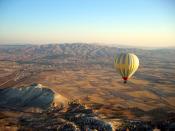
[{"label": "pale blue-grey rocky hill with sunlit right tip, at left edge", "polygon": [[53,102],[61,103],[65,100],[63,96],[41,84],[0,89],[0,107],[46,109]]}]

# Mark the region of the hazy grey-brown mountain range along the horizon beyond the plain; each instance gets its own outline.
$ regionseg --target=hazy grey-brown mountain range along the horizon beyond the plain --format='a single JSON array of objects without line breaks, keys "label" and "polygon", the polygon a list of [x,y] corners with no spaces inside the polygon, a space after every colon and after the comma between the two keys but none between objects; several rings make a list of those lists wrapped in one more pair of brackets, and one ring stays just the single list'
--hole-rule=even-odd
[{"label": "hazy grey-brown mountain range along the horizon beyond the plain", "polygon": [[48,45],[0,45],[0,60],[20,62],[82,62],[82,63],[108,63],[115,55],[121,52],[132,52],[140,60],[151,61],[160,59],[175,61],[175,49],[144,50],[139,48],[118,48],[93,44],[48,44]]}]

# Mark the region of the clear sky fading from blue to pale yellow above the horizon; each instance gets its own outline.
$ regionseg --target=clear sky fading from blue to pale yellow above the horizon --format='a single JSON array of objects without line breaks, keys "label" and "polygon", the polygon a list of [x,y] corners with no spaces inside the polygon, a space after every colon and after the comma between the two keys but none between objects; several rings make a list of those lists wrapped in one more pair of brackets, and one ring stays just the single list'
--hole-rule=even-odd
[{"label": "clear sky fading from blue to pale yellow above the horizon", "polygon": [[0,0],[0,43],[175,46],[174,0]]}]

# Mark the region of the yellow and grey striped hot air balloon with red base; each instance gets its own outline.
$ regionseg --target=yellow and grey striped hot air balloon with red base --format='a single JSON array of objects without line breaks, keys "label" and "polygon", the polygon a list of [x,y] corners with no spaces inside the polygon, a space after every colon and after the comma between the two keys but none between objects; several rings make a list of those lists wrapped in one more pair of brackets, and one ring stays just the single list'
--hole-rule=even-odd
[{"label": "yellow and grey striped hot air balloon with red base", "polygon": [[132,53],[121,53],[114,60],[114,66],[122,76],[124,83],[136,72],[139,67],[139,59]]}]

